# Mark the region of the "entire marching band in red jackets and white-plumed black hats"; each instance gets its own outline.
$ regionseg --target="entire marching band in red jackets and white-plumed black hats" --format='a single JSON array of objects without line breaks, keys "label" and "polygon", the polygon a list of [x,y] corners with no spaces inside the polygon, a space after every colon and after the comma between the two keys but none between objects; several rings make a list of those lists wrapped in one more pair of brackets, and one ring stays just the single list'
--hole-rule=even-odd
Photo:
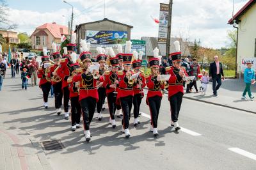
[{"label": "entire marching band in red jackets and white-plumed black hats", "polygon": [[[183,97],[183,82],[188,76],[181,66],[181,52],[179,42],[174,42],[176,52],[170,54],[173,65],[166,67],[166,75],[159,70],[161,56],[159,49],[154,49],[154,56],[148,59],[150,74],[145,75],[141,68],[143,52],[131,51],[131,42],[126,42],[125,53],[122,45],[118,45],[118,54],[112,47],[103,49],[97,47],[97,63],[92,63],[90,43],[81,40],[81,54],[77,58],[76,44],[68,43],[64,47],[63,56],[57,51],[56,44],[52,43],[52,54],[47,56],[44,49],[42,65],[38,70],[40,88],[43,91],[44,107],[48,107],[48,95],[51,86],[54,88],[54,104],[56,114],[61,114],[63,100],[64,118],[68,120],[68,102],[71,103],[71,130],[74,132],[80,127],[81,115],[85,141],[91,140],[90,123],[97,110],[97,119],[102,120],[102,108],[105,100],[108,101],[109,124],[115,128],[115,114],[122,117],[122,129],[126,138],[131,136],[129,121],[133,105],[133,125],[140,124],[139,114],[141,100],[145,96],[150,111],[150,131],[154,137],[157,132],[157,120],[163,98],[163,90],[168,89],[168,100],[171,110],[171,126],[180,130],[178,120]],[[165,78],[163,78],[165,77]],[[167,77],[167,78],[166,78]],[[116,111],[117,110],[117,111]]]}]

